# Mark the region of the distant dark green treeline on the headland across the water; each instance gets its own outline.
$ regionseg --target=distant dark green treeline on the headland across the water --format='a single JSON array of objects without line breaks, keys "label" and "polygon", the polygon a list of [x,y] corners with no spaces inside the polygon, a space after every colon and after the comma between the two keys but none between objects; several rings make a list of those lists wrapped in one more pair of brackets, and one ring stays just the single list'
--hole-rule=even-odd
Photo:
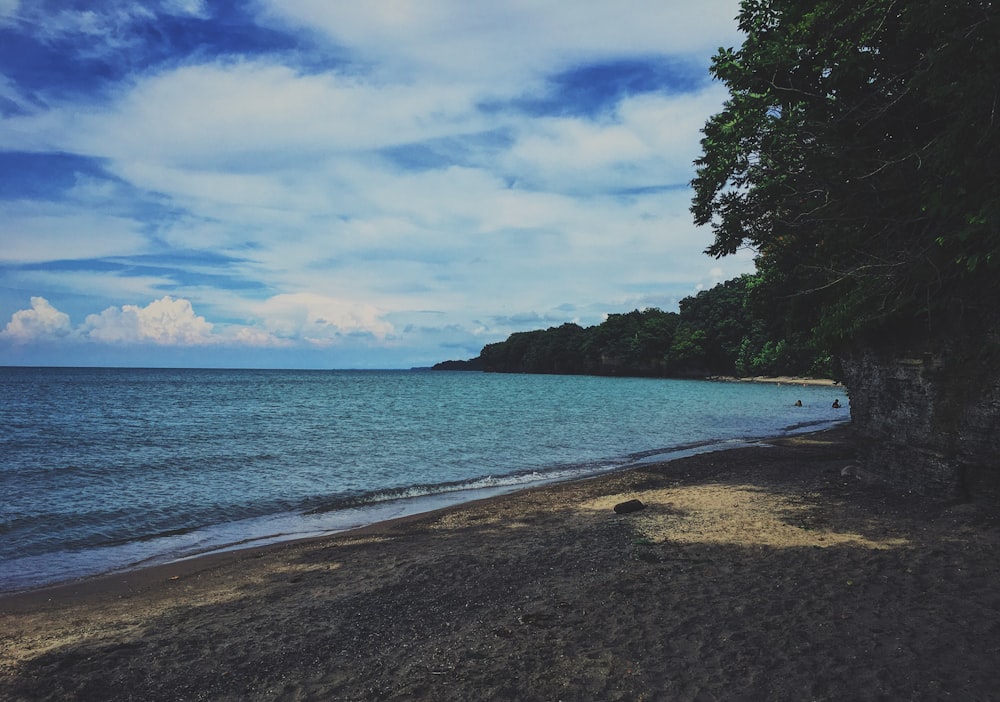
[{"label": "distant dark green treeline on the headland across the water", "polygon": [[[653,377],[802,375],[832,377],[831,356],[804,332],[755,314],[757,278],[744,275],[680,301],[680,312],[650,308],[609,315],[593,327],[563,324],[518,332],[471,361],[438,370]],[[773,315],[767,315],[772,318]]]}]

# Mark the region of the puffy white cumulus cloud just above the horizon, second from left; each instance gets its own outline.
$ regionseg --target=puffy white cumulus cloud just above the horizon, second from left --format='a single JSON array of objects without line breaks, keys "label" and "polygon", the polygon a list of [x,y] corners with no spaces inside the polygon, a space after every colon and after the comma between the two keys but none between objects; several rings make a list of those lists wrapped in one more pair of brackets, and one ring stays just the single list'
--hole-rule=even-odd
[{"label": "puffy white cumulus cloud just above the horizon, second from left", "polygon": [[175,300],[169,295],[145,307],[122,305],[88,315],[83,334],[107,343],[198,346],[217,342],[212,335],[212,324],[196,315],[188,300]]}]

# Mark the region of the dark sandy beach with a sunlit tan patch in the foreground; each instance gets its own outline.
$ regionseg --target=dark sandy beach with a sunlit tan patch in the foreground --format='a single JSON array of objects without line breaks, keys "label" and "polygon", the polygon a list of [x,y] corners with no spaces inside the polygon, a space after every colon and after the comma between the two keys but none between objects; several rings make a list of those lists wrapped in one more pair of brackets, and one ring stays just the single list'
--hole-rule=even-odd
[{"label": "dark sandy beach with a sunlit tan patch in the foreground", "polygon": [[7,596],[0,699],[1000,699],[995,508],[852,462],[836,429]]}]

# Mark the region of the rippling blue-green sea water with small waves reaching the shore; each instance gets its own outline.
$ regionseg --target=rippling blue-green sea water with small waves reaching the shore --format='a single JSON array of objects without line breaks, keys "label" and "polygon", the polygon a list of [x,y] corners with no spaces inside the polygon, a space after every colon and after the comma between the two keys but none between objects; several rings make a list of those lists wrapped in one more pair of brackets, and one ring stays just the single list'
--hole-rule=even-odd
[{"label": "rippling blue-green sea water with small waves reaching the shore", "polygon": [[[0,591],[846,421],[842,388],[0,368]],[[795,407],[802,400],[803,407]]]}]

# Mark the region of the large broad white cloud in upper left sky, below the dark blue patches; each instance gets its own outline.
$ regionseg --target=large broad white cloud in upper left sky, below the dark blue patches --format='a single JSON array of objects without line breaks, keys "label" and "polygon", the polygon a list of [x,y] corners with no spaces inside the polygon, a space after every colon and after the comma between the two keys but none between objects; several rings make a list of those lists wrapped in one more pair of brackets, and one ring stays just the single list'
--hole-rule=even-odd
[{"label": "large broad white cloud in upper left sky, below the dark blue patches", "polygon": [[[111,111],[78,114],[53,138],[122,162],[268,172],[481,126],[466,86],[378,84],[303,74],[276,59],[181,66],[148,76]],[[150,138],[155,135],[155,138]],[[113,139],[110,137],[114,137]]]}]

